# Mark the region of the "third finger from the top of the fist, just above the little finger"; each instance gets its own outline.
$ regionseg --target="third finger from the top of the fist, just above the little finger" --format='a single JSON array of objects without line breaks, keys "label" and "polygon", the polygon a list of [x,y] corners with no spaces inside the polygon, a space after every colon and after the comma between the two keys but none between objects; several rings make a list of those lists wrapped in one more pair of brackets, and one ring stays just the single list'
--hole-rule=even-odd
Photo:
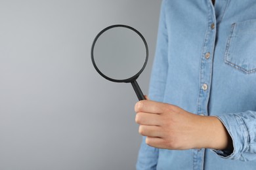
[{"label": "third finger from the top of the fist, just above the little finger", "polygon": [[140,135],[147,137],[162,137],[161,127],[159,126],[146,126],[140,125],[139,127]]}]

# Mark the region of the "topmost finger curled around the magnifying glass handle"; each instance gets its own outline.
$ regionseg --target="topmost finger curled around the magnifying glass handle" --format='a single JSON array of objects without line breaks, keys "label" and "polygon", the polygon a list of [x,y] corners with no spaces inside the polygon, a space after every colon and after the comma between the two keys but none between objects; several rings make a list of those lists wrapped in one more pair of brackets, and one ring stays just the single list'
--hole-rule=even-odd
[{"label": "topmost finger curled around the magnifying glass handle", "polygon": [[165,103],[160,103],[156,101],[142,100],[136,103],[135,112],[149,112],[149,113],[160,114],[163,112],[163,107],[165,105],[166,105]]}]

